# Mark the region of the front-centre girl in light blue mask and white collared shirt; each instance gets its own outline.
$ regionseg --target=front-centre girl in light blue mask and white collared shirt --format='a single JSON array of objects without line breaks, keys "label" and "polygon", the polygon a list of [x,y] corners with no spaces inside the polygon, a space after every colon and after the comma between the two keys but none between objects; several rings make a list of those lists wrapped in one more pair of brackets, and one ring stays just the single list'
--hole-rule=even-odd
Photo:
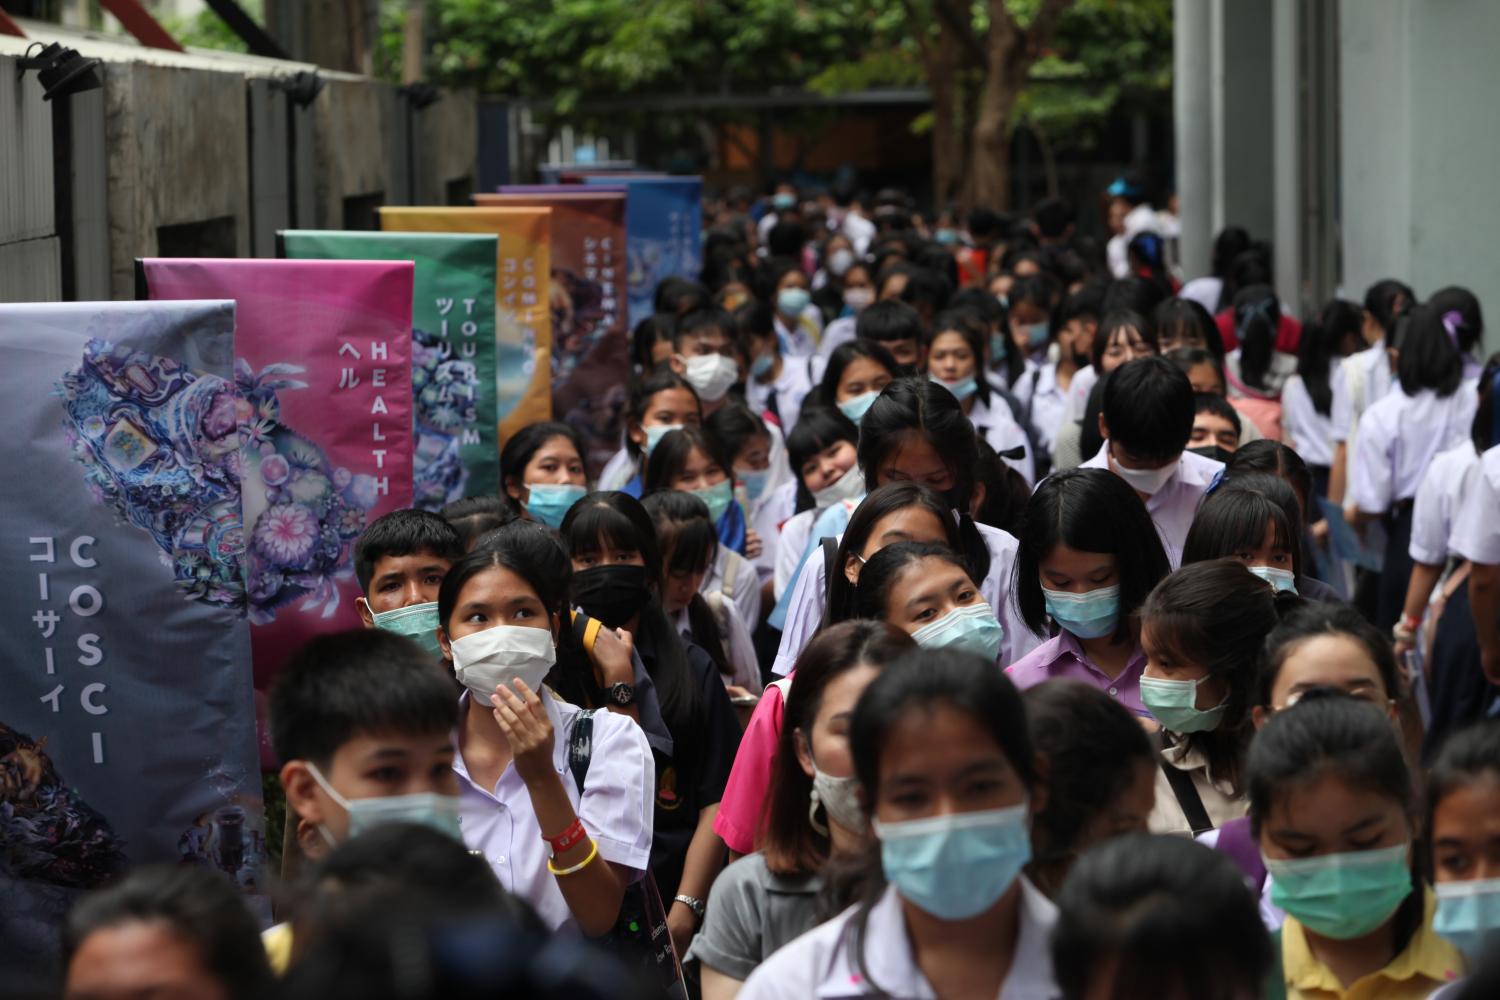
[{"label": "front-centre girl in light blue mask and white collared shirt", "polygon": [[908,655],[860,699],[849,744],[885,885],[740,996],[1053,1000],[1056,907],[1020,874],[1042,784],[1016,687],[966,654]]}]

